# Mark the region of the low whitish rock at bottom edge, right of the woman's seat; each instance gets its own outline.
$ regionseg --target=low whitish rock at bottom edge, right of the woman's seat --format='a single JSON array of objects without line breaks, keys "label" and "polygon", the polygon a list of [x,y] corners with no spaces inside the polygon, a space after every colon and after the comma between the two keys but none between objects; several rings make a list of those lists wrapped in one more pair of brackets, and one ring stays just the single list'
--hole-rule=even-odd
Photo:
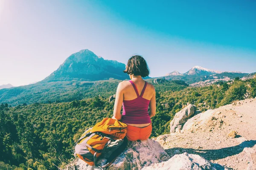
[{"label": "low whitish rock at bottom edge, right of the woman's seat", "polygon": [[228,170],[219,164],[213,164],[199,155],[183,153],[168,161],[156,163],[142,170]]}]

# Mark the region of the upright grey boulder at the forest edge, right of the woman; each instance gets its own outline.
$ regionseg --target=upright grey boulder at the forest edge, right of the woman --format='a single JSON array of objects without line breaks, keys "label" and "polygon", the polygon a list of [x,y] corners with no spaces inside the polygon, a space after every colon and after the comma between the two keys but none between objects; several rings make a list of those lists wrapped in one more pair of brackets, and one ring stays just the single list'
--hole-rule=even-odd
[{"label": "upright grey boulder at the forest edge, right of the woman", "polygon": [[183,128],[184,123],[195,114],[196,107],[195,105],[189,104],[186,108],[183,108],[181,111],[177,112],[170,123],[170,133],[176,132]]}]

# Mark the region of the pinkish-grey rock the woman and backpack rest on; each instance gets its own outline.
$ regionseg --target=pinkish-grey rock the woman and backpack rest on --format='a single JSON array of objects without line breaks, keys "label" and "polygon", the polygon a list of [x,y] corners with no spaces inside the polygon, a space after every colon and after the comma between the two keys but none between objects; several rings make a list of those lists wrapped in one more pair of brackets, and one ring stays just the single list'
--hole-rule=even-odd
[{"label": "pinkish-grey rock the woman and backpack rest on", "polygon": [[[114,144],[115,145],[115,144]],[[119,144],[116,144],[117,147]],[[102,156],[107,158],[111,154],[112,146],[106,149],[106,154]],[[112,151],[113,152],[113,151]],[[108,170],[137,170],[151,164],[160,163],[170,159],[163,147],[155,140],[148,139],[145,141],[129,142],[128,147],[116,158],[115,161],[108,167]],[[104,164],[106,159],[100,160],[99,164]],[[77,159],[73,166],[69,166],[68,170],[94,170],[97,167],[92,167],[86,164],[81,159]]]}]

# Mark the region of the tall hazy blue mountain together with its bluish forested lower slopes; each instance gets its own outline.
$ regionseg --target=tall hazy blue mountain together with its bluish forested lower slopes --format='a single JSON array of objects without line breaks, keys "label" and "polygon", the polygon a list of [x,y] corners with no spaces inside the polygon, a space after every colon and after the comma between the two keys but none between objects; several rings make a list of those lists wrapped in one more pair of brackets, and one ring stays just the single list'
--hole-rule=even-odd
[{"label": "tall hazy blue mountain together with its bluish forested lower slopes", "polygon": [[120,80],[129,79],[123,70],[123,63],[103,59],[88,49],[81,50],[70,55],[56,71],[40,82],[1,89],[0,103],[58,103],[103,94],[110,96],[115,93]]}]

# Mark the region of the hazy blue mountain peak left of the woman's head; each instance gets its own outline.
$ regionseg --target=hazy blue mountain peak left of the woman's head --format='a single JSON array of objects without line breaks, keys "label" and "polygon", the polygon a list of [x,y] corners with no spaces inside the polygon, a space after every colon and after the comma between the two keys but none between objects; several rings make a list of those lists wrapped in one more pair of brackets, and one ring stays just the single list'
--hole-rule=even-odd
[{"label": "hazy blue mountain peak left of the woman's head", "polygon": [[123,70],[125,70],[125,64],[103,59],[96,56],[92,51],[84,49],[70,55],[43,82],[67,80],[96,81],[110,78],[128,79],[128,75],[123,73]]}]

